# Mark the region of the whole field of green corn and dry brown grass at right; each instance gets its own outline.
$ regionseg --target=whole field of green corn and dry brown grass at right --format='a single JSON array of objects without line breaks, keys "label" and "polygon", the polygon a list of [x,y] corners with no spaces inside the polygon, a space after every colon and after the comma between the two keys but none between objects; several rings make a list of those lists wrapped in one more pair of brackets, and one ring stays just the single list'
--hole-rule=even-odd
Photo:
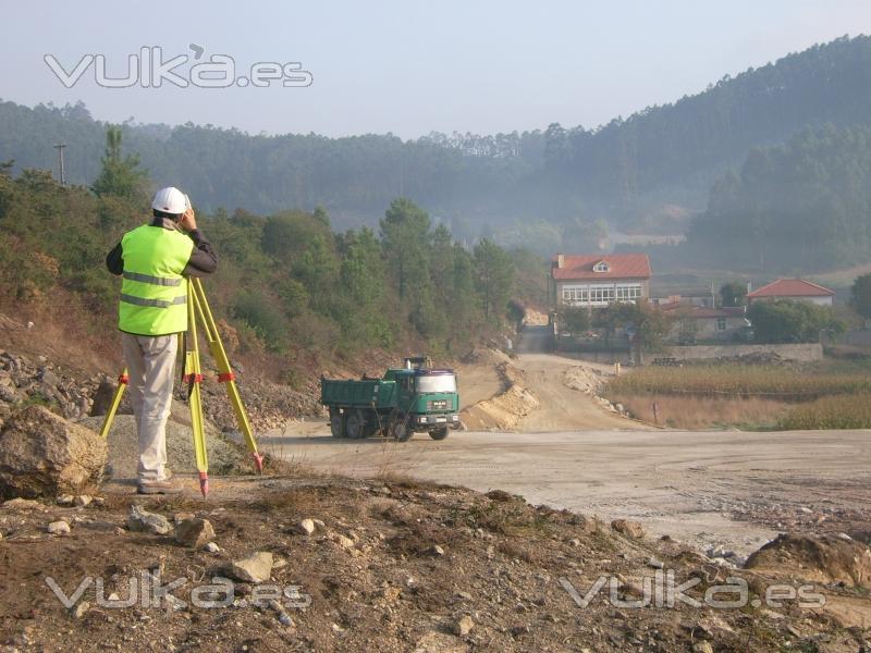
[{"label": "whole field of green corn and dry brown grass at right", "polygon": [[867,364],[647,367],[604,393],[634,417],[671,428],[871,428]]}]

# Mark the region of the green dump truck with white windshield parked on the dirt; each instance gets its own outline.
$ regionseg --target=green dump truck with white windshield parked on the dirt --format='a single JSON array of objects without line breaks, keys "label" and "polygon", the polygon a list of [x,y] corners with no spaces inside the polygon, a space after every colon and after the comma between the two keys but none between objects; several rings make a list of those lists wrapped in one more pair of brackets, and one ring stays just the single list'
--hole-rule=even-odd
[{"label": "green dump truck with white windshield parked on the dirt", "polygon": [[459,395],[453,370],[432,369],[428,358],[406,358],[405,367],[381,379],[321,379],[320,401],[330,410],[333,438],[384,435],[400,442],[416,432],[444,440],[459,428]]}]

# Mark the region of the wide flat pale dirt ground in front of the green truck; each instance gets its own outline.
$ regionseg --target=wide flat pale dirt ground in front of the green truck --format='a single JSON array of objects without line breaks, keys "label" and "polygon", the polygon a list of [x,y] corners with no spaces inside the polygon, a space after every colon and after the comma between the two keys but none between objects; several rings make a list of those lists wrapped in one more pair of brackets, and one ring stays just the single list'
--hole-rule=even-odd
[{"label": "wide flat pale dirt ground in front of the green truck", "polygon": [[457,432],[404,444],[314,435],[265,445],[331,472],[499,488],[531,503],[638,519],[654,533],[741,555],[797,515],[871,513],[867,431]]}]

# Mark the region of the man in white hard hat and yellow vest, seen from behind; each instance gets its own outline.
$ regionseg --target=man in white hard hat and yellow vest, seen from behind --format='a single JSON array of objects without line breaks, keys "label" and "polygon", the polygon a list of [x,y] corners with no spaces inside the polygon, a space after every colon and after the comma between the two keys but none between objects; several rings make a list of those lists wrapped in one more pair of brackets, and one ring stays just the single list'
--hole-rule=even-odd
[{"label": "man in white hard hat and yellow vest, seen from behind", "polygon": [[172,405],[177,335],[187,331],[187,278],[211,274],[218,257],[191,200],[174,187],[151,202],[154,218],[127,232],[106,257],[123,275],[118,328],[139,439],[139,494],[176,494],[167,469],[167,419]]}]

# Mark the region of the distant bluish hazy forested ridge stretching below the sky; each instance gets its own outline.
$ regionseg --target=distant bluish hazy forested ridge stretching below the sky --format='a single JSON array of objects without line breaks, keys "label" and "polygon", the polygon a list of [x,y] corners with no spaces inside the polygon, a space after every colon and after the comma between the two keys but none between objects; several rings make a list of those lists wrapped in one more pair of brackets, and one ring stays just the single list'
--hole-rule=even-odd
[{"label": "distant bluish hazy forested ridge stretching below the sky", "polygon": [[[604,218],[629,229],[663,207],[674,205],[670,210],[678,214],[682,207],[701,210],[711,183],[752,147],[783,143],[806,126],[868,123],[869,116],[871,38],[860,36],[724,77],[699,95],[594,130],[553,124],[523,134],[403,141],[127,123],[124,144],[142,156],[151,178],[186,188],[206,209],[322,205],[346,227],[375,224],[390,199],[404,195],[462,238],[492,227],[499,227],[494,235],[508,234],[530,219],[565,225]],[[53,169],[52,146],[64,141],[70,180],[90,184],[105,132],[81,104],[3,102],[0,161]]]}]

